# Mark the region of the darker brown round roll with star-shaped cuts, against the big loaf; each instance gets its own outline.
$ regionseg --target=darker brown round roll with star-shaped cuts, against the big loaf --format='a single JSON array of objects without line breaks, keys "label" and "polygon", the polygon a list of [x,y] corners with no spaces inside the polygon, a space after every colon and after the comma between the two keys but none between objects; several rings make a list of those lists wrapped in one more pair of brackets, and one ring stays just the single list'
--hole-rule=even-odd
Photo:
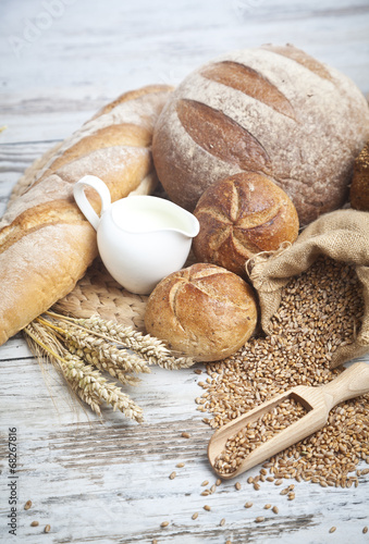
[{"label": "darker brown round roll with star-shaped cuts, against the big loaf", "polygon": [[260,251],[295,242],[298,217],[288,196],[268,177],[239,173],[210,185],[194,214],[197,261],[212,262],[246,277],[245,262]]}]

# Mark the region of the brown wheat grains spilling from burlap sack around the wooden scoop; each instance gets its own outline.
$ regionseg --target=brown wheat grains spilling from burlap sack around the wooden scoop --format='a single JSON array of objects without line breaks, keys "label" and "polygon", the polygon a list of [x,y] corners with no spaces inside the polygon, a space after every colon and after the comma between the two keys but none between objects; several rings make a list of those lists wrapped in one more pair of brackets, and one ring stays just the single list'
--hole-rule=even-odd
[{"label": "brown wheat grains spilling from burlap sack around the wooden scoop", "polygon": [[[354,269],[319,258],[283,289],[268,336],[250,339],[237,354],[208,363],[198,409],[204,421],[219,428],[295,385],[322,385],[344,368],[330,370],[335,349],[352,343],[364,312],[362,289]],[[369,395],[337,405],[327,425],[263,465],[249,483],[281,479],[311,481],[322,486],[358,485],[369,469]],[[269,470],[267,475],[266,469]]]}]

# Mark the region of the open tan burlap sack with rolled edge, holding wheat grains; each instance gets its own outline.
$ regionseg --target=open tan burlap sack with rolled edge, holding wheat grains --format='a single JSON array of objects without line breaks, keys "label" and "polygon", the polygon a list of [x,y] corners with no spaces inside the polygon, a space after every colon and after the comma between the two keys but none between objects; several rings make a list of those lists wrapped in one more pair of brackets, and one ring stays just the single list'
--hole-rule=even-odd
[{"label": "open tan burlap sack with rolled edge, holding wheat grains", "polygon": [[321,255],[353,264],[364,288],[361,329],[353,344],[333,354],[334,368],[369,353],[369,212],[347,209],[327,213],[310,223],[293,245],[256,256],[246,263],[246,270],[259,296],[261,327],[268,334],[282,287]]}]

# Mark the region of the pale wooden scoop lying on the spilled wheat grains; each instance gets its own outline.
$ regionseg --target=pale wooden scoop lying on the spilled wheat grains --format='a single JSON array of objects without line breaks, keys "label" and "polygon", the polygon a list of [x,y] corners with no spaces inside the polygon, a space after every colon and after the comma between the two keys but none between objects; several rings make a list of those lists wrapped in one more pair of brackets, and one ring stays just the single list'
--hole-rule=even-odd
[{"label": "pale wooden scoop lying on the spilled wheat grains", "polygon": [[[211,467],[223,480],[229,480],[242,474],[246,470],[263,462],[273,455],[306,438],[319,431],[328,421],[330,410],[339,403],[364,395],[369,392],[369,364],[356,362],[327,385],[311,387],[298,385],[281,395],[263,403],[249,412],[236,418],[226,425],[216,431],[209,441],[208,458]],[[306,410],[298,421],[278,432],[273,437],[257,446],[242,460],[232,473],[224,474],[216,469],[218,456],[225,449],[229,438],[236,435],[247,423],[258,420],[266,412],[287,398],[293,398]]]}]

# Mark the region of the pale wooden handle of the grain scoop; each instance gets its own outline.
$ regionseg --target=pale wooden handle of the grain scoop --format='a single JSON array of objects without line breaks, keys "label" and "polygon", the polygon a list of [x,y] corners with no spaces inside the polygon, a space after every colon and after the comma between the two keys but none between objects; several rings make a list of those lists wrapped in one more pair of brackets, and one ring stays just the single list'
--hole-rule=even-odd
[{"label": "pale wooden handle of the grain scoop", "polygon": [[324,395],[331,397],[330,409],[344,400],[369,393],[369,363],[355,362],[322,388]]}]

